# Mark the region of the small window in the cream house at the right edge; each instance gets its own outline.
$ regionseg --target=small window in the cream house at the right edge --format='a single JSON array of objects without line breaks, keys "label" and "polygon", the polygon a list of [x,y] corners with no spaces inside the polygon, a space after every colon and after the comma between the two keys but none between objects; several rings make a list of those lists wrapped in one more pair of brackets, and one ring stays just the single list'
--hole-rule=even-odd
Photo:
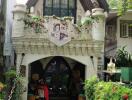
[{"label": "small window in the cream house at the right edge", "polygon": [[120,21],[120,37],[132,37],[132,20]]}]

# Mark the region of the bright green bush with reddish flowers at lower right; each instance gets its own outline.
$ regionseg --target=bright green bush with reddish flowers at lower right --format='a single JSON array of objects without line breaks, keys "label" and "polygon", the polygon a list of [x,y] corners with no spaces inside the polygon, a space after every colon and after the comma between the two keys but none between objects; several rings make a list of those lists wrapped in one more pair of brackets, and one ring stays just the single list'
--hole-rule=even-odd
[{"label": "bright green bush with reddish flowers at lower right", "polygon": [[98,81],[96,78],[86,80],[85,95],[87,100],[128,100],[132,99],[132,89],[118,83]]}]

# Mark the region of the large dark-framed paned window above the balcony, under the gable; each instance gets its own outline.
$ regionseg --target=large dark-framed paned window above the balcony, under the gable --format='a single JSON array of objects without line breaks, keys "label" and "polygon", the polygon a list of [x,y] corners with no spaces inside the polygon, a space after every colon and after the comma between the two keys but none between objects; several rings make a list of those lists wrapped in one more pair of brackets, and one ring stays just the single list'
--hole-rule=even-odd
[{"label": "large dark-framed paned window above the balcony, under the gable", "polygon": [[45,0],[44,15],[56,15],[59,17],[76,15],[76,0]]}]

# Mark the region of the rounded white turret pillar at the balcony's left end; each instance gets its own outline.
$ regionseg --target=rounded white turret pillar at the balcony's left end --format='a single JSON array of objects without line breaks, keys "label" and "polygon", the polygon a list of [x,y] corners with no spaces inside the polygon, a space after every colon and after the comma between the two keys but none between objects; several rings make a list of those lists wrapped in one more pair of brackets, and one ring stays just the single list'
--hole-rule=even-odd
[{"label": "rounded white turret pillar at the balcony's left end", "polygon": [[23,18],[26,14],[26,6],[18,4],[14,6],[13,10],[13,26],[12,26],[12,37],[24,36],[24,21]]}]

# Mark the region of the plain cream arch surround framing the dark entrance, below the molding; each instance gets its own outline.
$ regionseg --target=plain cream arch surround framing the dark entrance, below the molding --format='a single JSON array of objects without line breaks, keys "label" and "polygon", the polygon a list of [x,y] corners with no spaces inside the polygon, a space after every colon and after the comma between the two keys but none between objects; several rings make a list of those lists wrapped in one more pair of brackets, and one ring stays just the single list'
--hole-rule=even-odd
[{"label": "plain cream arch surround framing the dark entrance, below the molding", "polygon": [[[28,81],[29,81],[29,77],[30,77],[29,76],[29,74],[30,74],[30,71],[29,71],[30,70],[30,64],[32,62],[37,61],[37,60],[41,60],[41,59],[45,59],[45,58],[49,58],[49,57],[54,57],[54,56],[44,55],[44,54],[25,54],[23,62],[22,62],[22,65],[26,66],[26,75],[25,75],[26,82],[23,83],[25,88],[28,87]],[[96,56],[93,56],[92,60],[91,60],[90,56],[73,56],[73,55],[65,56],[65,55],[62,55],[61,57],[71,59],[73,61],[77,61],[81,64],[84,64],[85,65],[85,79],[88,79],[88,78],[90,78],[94,75],[97,75],[97,71],[96,71],[96,69],[97,69],[97,57]],[[20,59],[21,59],[21,54],[18,54],[17,55],[17,70],[20,69],[19,68]],[[94,65],[93,65],[92,61],[94,62]],[[23,100],[27,100],[27,92],[28,91],[25,91],[22,94],[22,99]]]}]

